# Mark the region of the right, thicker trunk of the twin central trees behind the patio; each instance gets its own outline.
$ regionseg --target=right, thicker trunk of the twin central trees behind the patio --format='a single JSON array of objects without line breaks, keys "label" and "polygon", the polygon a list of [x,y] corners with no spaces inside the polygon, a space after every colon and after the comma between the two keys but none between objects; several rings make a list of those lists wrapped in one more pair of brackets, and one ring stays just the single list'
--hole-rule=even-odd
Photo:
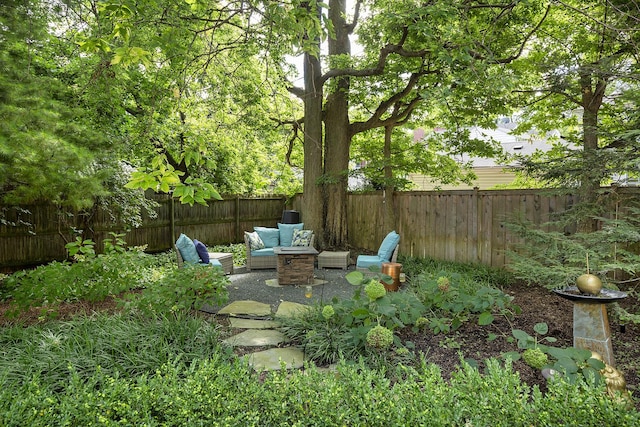
[{"label": "right, thicker trunk of the twin central trees behind the patio", "polygon": [[[345,0],[329,2],[329,19],[335,29],[335,38],[329,37],[329,55],[351,53],[345,13]],[[347,185],[351,144],[348,94],[349,78],[340,78],[325,105],[325,243],[331,248],[345,248],[348,237]]]}]

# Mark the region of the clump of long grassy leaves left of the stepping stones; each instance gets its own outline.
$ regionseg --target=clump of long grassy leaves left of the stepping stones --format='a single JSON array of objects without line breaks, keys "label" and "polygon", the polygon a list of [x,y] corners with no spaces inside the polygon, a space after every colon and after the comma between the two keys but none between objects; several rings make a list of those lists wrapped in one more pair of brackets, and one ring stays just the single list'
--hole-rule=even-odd
[{"label": "clump of long grassy leaves left of the stepping stones", "polygon": [[154,375],[164,364],[189,366],[198,359],[230,356],[218,329],[193,316],[94,315],[44,325],[0,330],[0,370],[5,387],[38,378],[48,390],[63,390],[69,376]]}]

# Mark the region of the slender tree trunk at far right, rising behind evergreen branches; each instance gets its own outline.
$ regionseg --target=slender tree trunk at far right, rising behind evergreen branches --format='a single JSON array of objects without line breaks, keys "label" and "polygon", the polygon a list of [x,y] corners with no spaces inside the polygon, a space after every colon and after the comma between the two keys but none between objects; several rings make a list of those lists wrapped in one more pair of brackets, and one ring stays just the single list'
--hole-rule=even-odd
[{"label": "slender tree trunk at far right, rising behind evergreen branches", "polygon": [[[589,67],[580,72],[580,85],[582,89],[582,132],[583,132],[583,156],[584,169],[580,177],[581,203],[592,204],[598,197],[598,189],[603,178],[603,167],[598,166],[598,111],[602,106],[602,99],[606,83],[597,80],[593,87],[593,75]],[[593,218],[584,218],[578,224],[578,232],[588,233],[596,231],[597,221]]]}]

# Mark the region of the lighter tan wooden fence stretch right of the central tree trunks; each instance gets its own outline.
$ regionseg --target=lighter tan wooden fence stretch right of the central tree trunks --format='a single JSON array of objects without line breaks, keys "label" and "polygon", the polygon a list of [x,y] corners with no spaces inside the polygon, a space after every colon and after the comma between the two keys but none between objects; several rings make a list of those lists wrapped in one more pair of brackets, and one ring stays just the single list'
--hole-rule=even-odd
[{"label": "lighter tan wooden fence stretch right of the central tree trunks", "polygon": [[[639,200],[639,190],[616,191],[621,200]],[[506,222],[524,218],[542,225],[575,202],[575,196],[551,195],[548,190],[400,192],[393,200],[383,193],[352,194],[347,202],[348,239],[354,247],[376,250],[395,228],[401,236],[400,254],[502,267],[506,250],[523,243]],[[395,227],[384,224],[385,203],[393,204]],[[611,217],[624,215],[623,207],[612,206]]]}]

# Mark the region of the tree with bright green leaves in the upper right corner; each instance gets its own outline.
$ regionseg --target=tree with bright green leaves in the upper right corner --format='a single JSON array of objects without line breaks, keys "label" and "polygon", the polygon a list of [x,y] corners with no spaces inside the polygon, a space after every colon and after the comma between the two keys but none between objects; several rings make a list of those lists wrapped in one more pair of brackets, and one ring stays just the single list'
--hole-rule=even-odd
[{"label": "tree with bright green leaves in the upper right corner", "polygon": [[629,26],[637,13],[636,3],[553,4],[530,50],[507,66],[520,82],[510,95],[520,112],[516,132],[535,130],[554,142],[520,159],[530,176],[593,202],[600,185],[637,175],[640,44]]}]

